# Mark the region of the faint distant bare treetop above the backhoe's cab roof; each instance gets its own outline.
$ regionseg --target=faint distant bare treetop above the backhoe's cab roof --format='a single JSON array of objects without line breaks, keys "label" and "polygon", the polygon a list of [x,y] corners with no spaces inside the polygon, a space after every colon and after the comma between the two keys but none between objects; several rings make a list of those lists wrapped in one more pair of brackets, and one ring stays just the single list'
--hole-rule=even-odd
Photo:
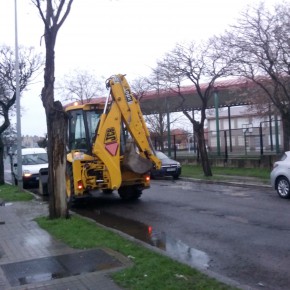
[{"label": "faint distant bare treetop above the backhoe's cab roof", "polygon": [[63,101],[77,101],[81,104],[105,95],[105,79],[97,78],[87,70],[76,69],[65,75],[57,85]]}]

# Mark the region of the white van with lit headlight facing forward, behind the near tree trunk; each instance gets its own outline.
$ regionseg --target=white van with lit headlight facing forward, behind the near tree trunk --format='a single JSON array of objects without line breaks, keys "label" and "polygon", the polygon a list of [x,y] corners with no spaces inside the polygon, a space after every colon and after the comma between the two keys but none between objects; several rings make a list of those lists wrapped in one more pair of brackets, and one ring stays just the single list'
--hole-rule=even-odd
[{"label": "white van with lit headlight facing forward, behind the near tree trunk", "polygon": [[[39,170],[48,168],[47,152],[44,148],[23,148],[22,180],[23,185],[39,182]],[[13,177],[15,184],[18,181],[17,151],[13,156]]]}]

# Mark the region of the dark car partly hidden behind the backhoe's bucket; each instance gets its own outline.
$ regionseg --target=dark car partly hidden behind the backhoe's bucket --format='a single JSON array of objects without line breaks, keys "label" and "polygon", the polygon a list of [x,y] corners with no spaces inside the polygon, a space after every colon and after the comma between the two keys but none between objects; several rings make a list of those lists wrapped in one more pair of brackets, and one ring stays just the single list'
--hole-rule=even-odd
[{"label": "dark car partly hidden behind the backhoe's bucket", "polygon": [[161,151],[155,151],[156,156],[160,159],[162,167],[159,170],[151,170],[151,178],[172,176],[178,179],[181,174],[181,165],[179,162],[169,158]]}]

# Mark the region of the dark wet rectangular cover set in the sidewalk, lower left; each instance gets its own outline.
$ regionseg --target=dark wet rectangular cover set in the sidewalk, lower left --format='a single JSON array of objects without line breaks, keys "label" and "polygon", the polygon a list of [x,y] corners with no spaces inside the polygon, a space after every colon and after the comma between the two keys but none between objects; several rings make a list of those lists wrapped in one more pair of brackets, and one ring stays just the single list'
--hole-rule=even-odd
[{"label": "dark wet rectangular cover set in the sidewalk, lower left", "polygon": [[32,284],[120,267],[122,263],[101,249],[1,265],[11,286]]}]

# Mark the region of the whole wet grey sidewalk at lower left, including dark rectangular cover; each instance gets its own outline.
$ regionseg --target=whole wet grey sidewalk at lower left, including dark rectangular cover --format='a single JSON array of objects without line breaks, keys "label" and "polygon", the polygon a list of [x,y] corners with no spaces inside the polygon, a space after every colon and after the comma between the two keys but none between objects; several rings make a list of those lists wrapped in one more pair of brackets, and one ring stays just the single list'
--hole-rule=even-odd
[{"label": "whole wet grey sidewalk at lower left, including dark rectangular cover", "polygon": [[[42,201],[0,206],[1,290],[121,289],[109,274],[128,266],[127,258],[109,250],[95,249],[92,261],[92,252],[86,254],[86,251],[72,249],[39,228],[33,219],[43,215],[48,215],[48,206]],[[84,257],[86,259],[81,261]],[[90,263],[94,263],[94,267],[97,264],[99,270],[89,272]],[[85,273],[82,267],[87,270]],[[68,270],[73,276],[68,276]]]}]

